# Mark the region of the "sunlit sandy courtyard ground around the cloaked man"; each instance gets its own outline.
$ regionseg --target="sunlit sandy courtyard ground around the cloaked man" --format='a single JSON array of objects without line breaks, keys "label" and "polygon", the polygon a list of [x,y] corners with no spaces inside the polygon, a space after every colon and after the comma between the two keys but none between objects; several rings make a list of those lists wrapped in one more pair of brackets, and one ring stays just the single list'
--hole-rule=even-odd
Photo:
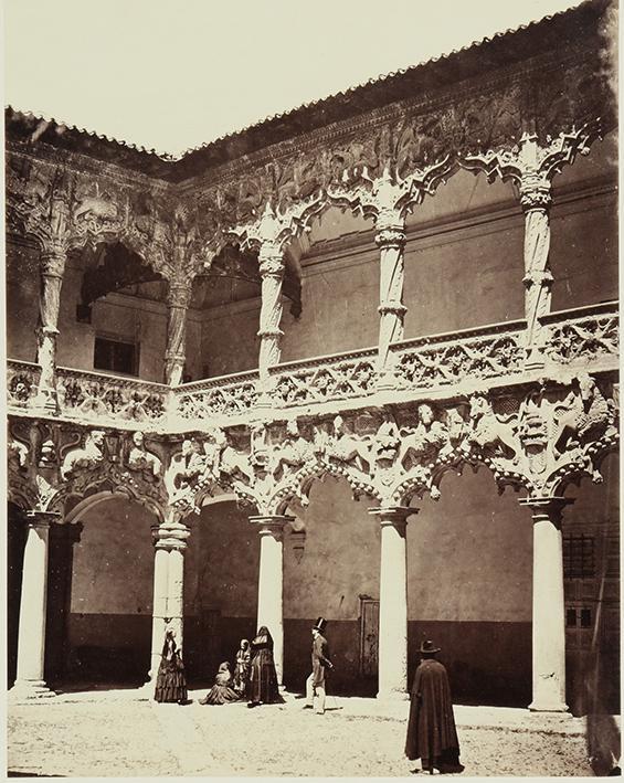
[{"label": "sunlit sandy courtyard ground around the cloaked man", "polygon": [[[419,764],[403,756],[406,703],[329,699],[325,716],[303,703],[287,698],[250,710],[103,695],[9,705],[8,768],[64,776],[412,777]],[[463,776],[592,774],[582,722],[485,708],[456,708],[456,716]]]}]

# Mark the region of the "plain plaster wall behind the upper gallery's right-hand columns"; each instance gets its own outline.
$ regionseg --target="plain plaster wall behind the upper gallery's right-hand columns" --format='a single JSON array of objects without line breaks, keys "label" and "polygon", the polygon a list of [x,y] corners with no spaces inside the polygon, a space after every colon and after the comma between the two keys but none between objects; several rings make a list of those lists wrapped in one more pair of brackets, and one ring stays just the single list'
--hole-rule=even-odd
[{"label": "plain plaster wall behind the upper gallery's right-hand columns", "polygon": [[[448,224],[414,224],[405,247],[405,339],[523,317],[525,225],[517,202],[509,203],[512,211],[499,218],[459,221],[455,214]],[[615,214],[613,193],[553,208],[553,309],[617,298]],[[353,244],[351,235],[345,246],[319,246],[322,253],[305,260],[298,319],[285,303],[283,361],[377,343],[379,253],[372,235],[364,239],[370,242]],[[207,314],[202,351],[211,375],[257,366],[258,322],[257,301]]]}]

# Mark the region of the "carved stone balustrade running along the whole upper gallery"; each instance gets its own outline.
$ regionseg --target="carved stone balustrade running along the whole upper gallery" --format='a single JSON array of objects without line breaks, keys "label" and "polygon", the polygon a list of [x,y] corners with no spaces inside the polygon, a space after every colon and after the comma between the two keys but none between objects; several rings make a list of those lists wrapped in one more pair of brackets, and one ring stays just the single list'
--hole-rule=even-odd
[{"label": "carved stone balustrade running along the whole upper gallery", "polygon": [[[504,388],[540,378],[568,382],[581,372],[618,367],[617,304],[553,313],[542,317],[548,332],[546,364],[527,367],[525,321],[507,321],[394,343],[396,387],[402,403],[455,399],[473,390]],[[336,413],[388,402],[377,388],[376,348],[278,364],[269,370],[272,411],[309,409]],[[10,361],[10,412],[38,411],[39,366]],[[59,368],[59,413],[84,424],[131,428],[148,424],[166,432],[202,431],[245,424],[257,417],[258,372],[240,372],[176,389],[84,370]],[[347,404],[342,404],[347,403]]]}]

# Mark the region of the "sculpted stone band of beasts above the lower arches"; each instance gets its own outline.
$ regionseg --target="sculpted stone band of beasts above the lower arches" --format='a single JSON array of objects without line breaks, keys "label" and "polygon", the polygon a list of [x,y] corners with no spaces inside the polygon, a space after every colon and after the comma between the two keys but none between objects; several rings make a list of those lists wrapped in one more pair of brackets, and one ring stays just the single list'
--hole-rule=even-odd
[{"label": "sculpted stone band of beasts above the lower arches", "polygon": [[9,440],[9,487],[19,502],[42,510],[121,491],[158,518],[178,520],[199,511],[207,496],[233,491],[273,516],[293,501],[305,507],[313,482],[325,475],[392,507],[425,493],[437,499],[446,470],[484,464],[500,489],[549,498],[583,475],[602,480],[601,461],[618,440],[617,391],[607,379],[580,373],[568,384],[477,390],[455,402],[213,426],[177,444],[142,431],[20,422]]}]

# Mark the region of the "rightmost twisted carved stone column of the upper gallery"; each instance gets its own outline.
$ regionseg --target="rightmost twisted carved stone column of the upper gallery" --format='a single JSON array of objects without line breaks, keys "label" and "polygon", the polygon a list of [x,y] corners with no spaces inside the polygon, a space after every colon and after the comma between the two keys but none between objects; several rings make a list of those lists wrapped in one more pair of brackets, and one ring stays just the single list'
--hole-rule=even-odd
[{"label": "rightmost twisted carved stone column of the upper gallery", "polygon": [[[527,141],[529,150],[535,141]],[[528,152],[529,154],[529,152]],[[535,170],[520,177],[520,203],[525,212],[525,317],[529,364],[542,364],[543,328],[541,316],[550,313],[553,283],[549,266],[550,219],[552,203],[550,180]]]}]

